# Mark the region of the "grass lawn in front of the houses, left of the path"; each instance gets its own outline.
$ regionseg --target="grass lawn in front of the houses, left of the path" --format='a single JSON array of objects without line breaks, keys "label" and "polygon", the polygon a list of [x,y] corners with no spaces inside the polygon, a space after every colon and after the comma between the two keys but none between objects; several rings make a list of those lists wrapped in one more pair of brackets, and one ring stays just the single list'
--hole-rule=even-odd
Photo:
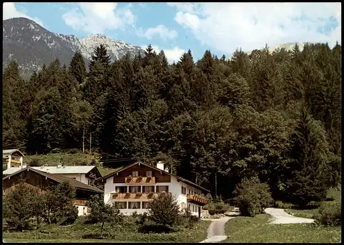
[{"label": "grass lawn in front of the houses, left of the path", "polygon": [[[126,226],[111,226],[105,224],[104,239],[83,238],[84,235],[100,233],[100,224],[72,224],[67,226],[52,226],[51,234],[47,227],[39,230],[3,233],[3,242],[201,242],[206,239],[206,229],[211,222],[200,220],[193,229],[180,227],[173,233],[138,233],[135,224]],[[36,239],[35,239],[36,237]]]}]

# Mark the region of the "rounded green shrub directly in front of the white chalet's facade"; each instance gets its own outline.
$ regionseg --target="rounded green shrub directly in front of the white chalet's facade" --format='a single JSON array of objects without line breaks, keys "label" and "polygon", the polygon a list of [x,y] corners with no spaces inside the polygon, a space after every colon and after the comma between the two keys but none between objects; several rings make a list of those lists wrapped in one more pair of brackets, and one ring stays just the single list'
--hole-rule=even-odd
[{"label": "rounded green shrub directly in front of the white chalet's facade", "polygon": [[150,203],[149,220],[162,226],[173,226],[180,221],[180,209],[175,198],[169,193],[162,193]]}]

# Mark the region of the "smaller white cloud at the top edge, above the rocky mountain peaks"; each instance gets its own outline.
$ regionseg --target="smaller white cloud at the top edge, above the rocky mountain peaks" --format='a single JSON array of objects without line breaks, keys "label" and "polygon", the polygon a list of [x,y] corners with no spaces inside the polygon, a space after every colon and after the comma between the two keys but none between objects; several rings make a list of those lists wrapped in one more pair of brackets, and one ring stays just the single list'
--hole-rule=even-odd
[{"label": "smaller white cloud at the top edge, above the rocky mountain peaks", "polygon": [[74,30],[103,34],[105,30],[122,29],[135,23],[129,8],[116,8],[117,3],[78,3],[78,8],[63,14],[63,20]]}]

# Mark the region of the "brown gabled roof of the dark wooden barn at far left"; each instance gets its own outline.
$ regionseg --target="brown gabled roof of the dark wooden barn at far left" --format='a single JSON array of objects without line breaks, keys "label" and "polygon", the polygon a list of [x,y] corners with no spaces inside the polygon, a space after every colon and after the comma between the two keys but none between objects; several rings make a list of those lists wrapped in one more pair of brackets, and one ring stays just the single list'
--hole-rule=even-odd
[{"label": "brown gabled roof of the dark wooden barn at far left", "polygon": [[92,191],[92,192],[97,192],[102,194],[104,191],[102,191],[101,189],[98,189],[96,187],[93,187],[91,185],[86,185],[78,180],[74,180],[73,178],[68,178],[66,176],[61,176],[61,175],[57,175],[57,174],[48,174],[39,170],[35,170],[32,167],[25,167],[22,170],[19,170],[17,172],[15,172],[14,174],[11,174],[9,176],[6,176],[3,178],[3,180],[9,179],[10,177],[16,175],[16,174],[20,174],[21,172],[24,172],[25,170],[27,171],[33,171],[36,172],[37,174],[41,174],[47,178],[50,178],[54,181],[56,181],[57,183],[63,183],[63,181],[69,181],[70,185],[72,185],[74,188],[76,189],[80,189],[80,190],[86,190],[86,191]]}]

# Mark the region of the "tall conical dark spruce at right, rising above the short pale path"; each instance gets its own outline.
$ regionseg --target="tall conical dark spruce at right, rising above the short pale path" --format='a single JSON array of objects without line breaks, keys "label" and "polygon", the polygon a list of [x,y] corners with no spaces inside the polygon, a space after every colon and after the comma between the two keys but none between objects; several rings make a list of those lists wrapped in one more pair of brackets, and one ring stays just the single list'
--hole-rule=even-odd
[{"label": "tall conical dark spruce at right, rising above the short pale path", "polygon": [[292,178],[287,182],[288,196],[295,204],[305,207],[310,201],[326,197],[326,184],[330,179],[325,131],[321,123],[312,118],[307,106],[301,108],[292,139],[290,153],[294,161]]}]

